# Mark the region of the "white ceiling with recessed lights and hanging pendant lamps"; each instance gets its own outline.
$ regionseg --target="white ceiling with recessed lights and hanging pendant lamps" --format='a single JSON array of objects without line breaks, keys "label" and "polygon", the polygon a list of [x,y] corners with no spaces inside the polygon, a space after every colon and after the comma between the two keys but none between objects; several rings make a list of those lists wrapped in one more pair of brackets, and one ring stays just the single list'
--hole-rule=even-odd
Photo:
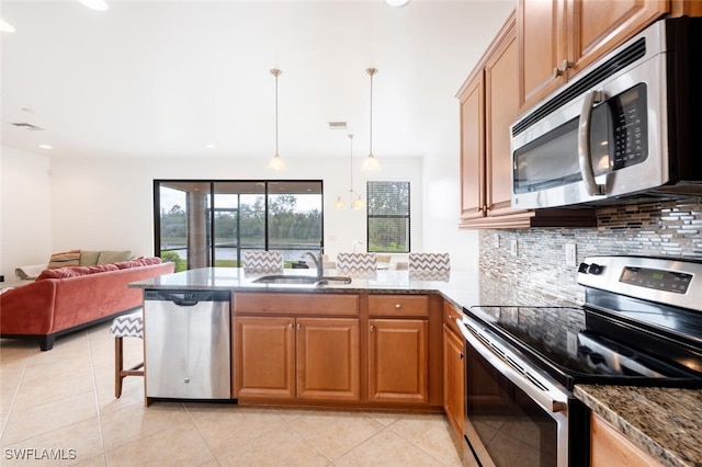
[{"label": "white ceiling with recessed lights and hanging pendant lamps", "polygon": [[[423,156],[511,0],[5,1],[3,146],[50,157]],[[348,122],[331,130],[330,121]],[[30,123],[27,130],[13,123]],[[451,134],[451,137],[457,137]],[[48,144],[53,150],[38,148]],[[456,143],[457,144],[457,143]],[[206,149],[216,145],[216,149]]]}]

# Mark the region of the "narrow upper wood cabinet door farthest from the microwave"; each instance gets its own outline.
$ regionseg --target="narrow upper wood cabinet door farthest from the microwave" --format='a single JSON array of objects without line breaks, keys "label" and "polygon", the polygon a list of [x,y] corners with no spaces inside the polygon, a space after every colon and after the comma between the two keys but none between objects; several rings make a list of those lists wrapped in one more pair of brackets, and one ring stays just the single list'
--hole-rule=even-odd
[{"label": "narrow upper wood cabinet door farthest from the microwave", "polygon": [[461,219],[485,216],[485,82],[480,72],[460,95]]}]

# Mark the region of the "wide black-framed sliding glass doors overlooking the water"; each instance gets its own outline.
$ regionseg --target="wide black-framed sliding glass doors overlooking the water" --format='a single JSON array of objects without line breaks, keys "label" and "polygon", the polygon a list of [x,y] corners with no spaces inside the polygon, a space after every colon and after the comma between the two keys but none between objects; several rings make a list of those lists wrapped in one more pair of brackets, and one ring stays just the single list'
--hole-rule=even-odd
[{"label": "wide black-framed sliding glass doors overlooking the water", "polygon": [[177,270],[241,264],[245,250],[287,263],[322,243],[321,181],[154,182],[156,255]]}]

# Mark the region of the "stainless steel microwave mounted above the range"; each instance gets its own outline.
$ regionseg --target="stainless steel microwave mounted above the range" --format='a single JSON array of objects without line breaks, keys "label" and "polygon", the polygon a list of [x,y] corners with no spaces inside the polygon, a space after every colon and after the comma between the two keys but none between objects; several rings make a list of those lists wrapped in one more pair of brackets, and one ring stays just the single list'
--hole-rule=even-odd
[{"label": "stainless steel microwave mounted above the range", "polygon": [[512,207],[702,196],[702,19],[657,21],[510,127]]}]

